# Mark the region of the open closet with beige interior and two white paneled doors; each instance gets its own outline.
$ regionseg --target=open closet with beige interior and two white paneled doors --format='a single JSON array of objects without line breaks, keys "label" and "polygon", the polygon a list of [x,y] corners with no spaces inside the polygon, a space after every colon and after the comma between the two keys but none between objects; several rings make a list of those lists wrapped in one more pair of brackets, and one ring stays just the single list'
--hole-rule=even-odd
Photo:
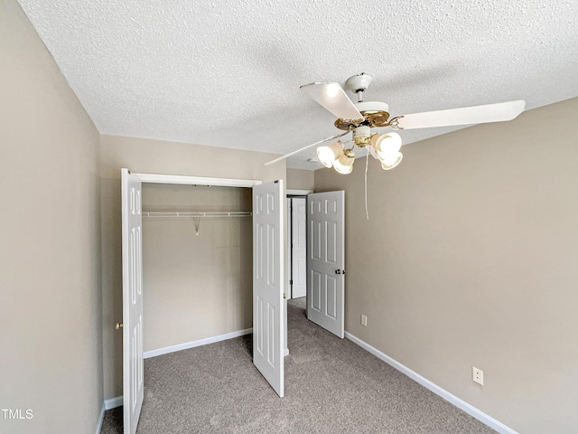
[{"label": "open closet with beige interior and two white paneled doors", "polygon": [[[135,432],[144,402],[144,358],[249,333],[256,369],[283,398],[283,194],[283,180],[121,169],[123,322],[117,329],[123,330],[127,432]],[[201,226],[211,219],[217,223]],[[191,223],[182,225],[186,220],[192,220],[194,238]],[[205,226],[210,238],[191,248]]]}]

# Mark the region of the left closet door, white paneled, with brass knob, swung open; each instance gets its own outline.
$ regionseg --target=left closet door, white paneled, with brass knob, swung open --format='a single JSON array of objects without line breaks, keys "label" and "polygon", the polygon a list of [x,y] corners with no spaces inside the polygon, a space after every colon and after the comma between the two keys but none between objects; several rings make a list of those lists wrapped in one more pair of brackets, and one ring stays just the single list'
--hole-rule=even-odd
[{"label": "left closet door, white paneled, with brass knob, swung open", "polygon": [[121,170],[124,432],[135,434],[144,400],[141,180]]}]

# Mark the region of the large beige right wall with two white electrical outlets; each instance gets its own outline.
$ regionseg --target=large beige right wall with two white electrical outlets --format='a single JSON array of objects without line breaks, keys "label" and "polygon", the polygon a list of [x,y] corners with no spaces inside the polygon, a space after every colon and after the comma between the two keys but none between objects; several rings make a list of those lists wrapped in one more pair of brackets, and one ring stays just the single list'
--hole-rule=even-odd
[{"label": "large beige right wall with two white electrical outlets", "polygon": [[578,432],[576,113],[407,145],[389,172],[370,161],[369,222],[364,160],[315,173],[316,191],[346,191],[346,329],[521,433]]}]

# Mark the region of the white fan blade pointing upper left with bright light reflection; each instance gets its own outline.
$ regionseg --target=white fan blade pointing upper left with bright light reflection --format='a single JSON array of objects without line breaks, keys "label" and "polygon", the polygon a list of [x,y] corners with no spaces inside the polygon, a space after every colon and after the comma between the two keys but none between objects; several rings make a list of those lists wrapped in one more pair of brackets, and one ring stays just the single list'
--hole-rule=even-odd
[{"label": "white fan blade pointing upper left with bright light reflection", "polygon": [[299,89],[303,90],[312,99],[315,99],[323,108],[331,111],[333,116],[348,120],[363,120],[363,115],[345,94],[339,83],[314,82],[304,84]]}]

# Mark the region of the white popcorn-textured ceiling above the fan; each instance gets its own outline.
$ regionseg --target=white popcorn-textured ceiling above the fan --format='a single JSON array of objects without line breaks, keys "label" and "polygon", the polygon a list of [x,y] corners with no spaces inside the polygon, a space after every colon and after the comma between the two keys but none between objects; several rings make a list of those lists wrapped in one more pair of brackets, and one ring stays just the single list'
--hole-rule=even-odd
[{"label": "white popcorn-textured ceiling above the fan", "polygon": [[339,132],[299,86],[359,72],[392,115],[578,96],[575,0],[19,3],[102,134],[284,154]]}]

